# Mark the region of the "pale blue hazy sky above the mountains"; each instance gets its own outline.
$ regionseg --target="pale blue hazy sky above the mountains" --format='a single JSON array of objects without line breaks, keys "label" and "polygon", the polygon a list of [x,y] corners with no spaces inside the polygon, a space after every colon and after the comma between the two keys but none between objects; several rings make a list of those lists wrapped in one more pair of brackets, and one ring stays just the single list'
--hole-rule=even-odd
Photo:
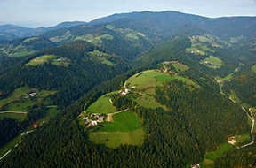
[{"label": "pale blue hazy sky above the mountains", "polygon": [[0,25],[52,27],[132,11],[180,11],[210,18],[256,16],[256,0],[0,0]]}]

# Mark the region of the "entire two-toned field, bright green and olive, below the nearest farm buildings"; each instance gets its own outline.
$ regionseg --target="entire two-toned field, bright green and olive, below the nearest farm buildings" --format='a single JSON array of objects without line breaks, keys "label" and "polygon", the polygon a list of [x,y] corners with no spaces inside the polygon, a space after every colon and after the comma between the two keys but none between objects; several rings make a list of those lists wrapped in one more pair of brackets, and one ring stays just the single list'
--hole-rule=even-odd
[{"label": "entire two-toned field, bright green and olive, below the nearest farm buildings", "polygon": [[124,111],[114,115],[114,122],[104,122],[99,131],[89,135],[89,140],[116,148],[121,144],[141,145],[144,135],[140,118],[132,111]]}]

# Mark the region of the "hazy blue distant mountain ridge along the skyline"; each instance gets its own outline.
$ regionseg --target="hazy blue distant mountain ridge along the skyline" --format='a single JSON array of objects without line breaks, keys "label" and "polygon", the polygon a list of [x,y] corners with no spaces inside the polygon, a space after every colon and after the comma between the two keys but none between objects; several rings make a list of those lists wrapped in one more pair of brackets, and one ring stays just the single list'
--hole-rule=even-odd
[{"label": "hazy blue distant mountain ridge along the skyline", "polygon": [[[142,11],[142,12],[132,12],[132,13],[121,13],[114,14],[108,17],[92,20],[89,23],[86,22],[63,22],[55,27],[38,27],[38,28],[28,28],[19,27],[14,25],[3,25],[0,26],[0,39],[2,40],[13,40],[19,37],[28,37],[32,35],[43,34],[47,31],[56,30],[60,28],[69,28],[77,25],[97,25],[116,21],[118,19],[133,19],[138,21],[140,24],[147,25],[152,29],[164,30],[165,34],[175,34],[179,32],[180,29],[185,27],[198,27],[205,31],[208,31],[214,35],[220,37],[228,37],[230,35],[252,35],[255,37],[255,32],[253,32],[253,27],[255,27],[256,19],[255,17],[225,17],[225,18],[206,18],[191,14],[185,14],[178,11]],[[241,31],[241,30],[246,31]],[[15,36],[13,36],[15,35]]]}]

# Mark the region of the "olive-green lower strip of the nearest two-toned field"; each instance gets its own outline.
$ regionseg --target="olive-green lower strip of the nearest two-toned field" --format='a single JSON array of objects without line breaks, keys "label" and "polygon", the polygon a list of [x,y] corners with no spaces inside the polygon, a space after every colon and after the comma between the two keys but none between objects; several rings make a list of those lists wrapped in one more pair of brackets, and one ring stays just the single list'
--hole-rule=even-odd
[{"label": "olive-green lower strip of the nearest two-toned field", "polygon": [[94,143],[106,144],[108,148],[117,148],[121,144],[142,145],[145,133],[142,128],[132,132],[92,133],[89,140]]}]

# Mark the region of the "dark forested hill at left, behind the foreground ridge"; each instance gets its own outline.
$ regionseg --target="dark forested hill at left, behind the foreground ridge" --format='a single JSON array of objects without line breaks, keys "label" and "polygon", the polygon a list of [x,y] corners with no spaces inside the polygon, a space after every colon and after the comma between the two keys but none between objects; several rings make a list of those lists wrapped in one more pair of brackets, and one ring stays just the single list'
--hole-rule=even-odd
[{"label": "dark forested hill at left, behind the foreground ridge", "polygon": [[[22,86],[38,88],[39,90],[56,90],[58,91],[57,94],[50,97],[53,103],[62,108],[79,99],[93,86],[130,69],[129,65],[120,57],[111,57],[111,61],[116,63],[113,66],[101,64],[95,59],[91,59],[87,53],[93,50],[100,49],[88,42],[72,42],[59,48],[36,53],[23,64],[1,76],[1,98],[9,95],[15,88]],[[68,67],[52,65],[51,63],[36,66],[25,65],[34,57],[44,54],[67,57],[70,64]]]}]

